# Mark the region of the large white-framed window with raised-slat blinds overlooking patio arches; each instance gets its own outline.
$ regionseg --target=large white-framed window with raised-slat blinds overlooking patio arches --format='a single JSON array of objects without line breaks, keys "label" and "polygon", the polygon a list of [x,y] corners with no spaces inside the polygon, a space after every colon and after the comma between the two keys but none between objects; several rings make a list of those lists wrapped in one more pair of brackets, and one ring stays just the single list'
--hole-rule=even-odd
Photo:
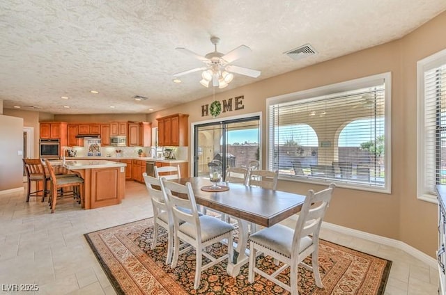
[{"label": "large white-framed window with raised-slat blinds overlooking patio arches", "polygon": [[268,168],[390,193],[390,73],[267,99]]}]

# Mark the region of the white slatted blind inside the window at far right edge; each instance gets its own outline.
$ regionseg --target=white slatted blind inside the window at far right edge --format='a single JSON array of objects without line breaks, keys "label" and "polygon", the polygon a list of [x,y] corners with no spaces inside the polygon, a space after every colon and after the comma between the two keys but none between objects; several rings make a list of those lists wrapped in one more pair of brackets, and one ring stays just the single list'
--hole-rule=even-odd
[{"label": "white slatted blind inside the window at far right edge", "polygon": [[446,184],[446,64],[424,72],[424,192]]}]

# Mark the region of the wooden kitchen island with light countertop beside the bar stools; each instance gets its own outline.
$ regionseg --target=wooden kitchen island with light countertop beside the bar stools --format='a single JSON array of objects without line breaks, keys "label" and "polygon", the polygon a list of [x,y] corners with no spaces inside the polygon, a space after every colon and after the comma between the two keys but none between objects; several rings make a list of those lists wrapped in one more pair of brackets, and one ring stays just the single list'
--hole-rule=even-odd
[{"label": "wooden kitchen island with light countertop beside the bar stools", "polygon": [[125,163],[90,159],[62,165],[84,179],[84,209],[117,205],[125,197]]}]

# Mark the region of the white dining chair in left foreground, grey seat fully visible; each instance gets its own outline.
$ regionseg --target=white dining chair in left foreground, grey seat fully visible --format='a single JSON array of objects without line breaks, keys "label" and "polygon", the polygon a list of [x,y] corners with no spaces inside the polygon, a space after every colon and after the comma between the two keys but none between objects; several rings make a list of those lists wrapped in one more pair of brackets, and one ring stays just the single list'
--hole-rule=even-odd
[{"label": "white dining chair in left foreground, grey seat fully visible", "polygon": [[[161,183],[166,192],[167,199],[169,200],[168,204],[174,216],[174,257],[171,266],[176,267],[178,263],[180,240],[194,247],[197,252],[194,289],[198,289],[200,285],[201,271],[226,259],[229,260],[229,262],[232,262],[232,234],[234,228],[229,223],[225,223],[215,217],[199,215],[190,182],[183,185],[162,178]],[[175,196],[177,193],[180,193],[182,197]],[[190,210],[190,212],[185,212],[183,208]],[[181,221],[183,221],[183,223],[180,223]],[[206,253],[206,247],[224,240],[228,247],[228,252],[225,255],[217,258]],[[184,252],[184,250],[181,251],[181,253]],[[208,264],[201,265],[203,255],[210,260]]]}]

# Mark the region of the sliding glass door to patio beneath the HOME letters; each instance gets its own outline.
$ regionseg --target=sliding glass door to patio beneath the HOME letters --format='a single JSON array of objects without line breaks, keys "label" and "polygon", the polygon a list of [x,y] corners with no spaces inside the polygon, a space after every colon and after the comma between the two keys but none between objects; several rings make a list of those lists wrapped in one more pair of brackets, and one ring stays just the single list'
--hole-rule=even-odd
[{"label": "sliding glass door to patio beneath the HOME letters", "polygon": [[223,175],[229,167],[259,167],[259,116],[194,127],[194,176],[207,176],[209,166],[222,166]]}]

